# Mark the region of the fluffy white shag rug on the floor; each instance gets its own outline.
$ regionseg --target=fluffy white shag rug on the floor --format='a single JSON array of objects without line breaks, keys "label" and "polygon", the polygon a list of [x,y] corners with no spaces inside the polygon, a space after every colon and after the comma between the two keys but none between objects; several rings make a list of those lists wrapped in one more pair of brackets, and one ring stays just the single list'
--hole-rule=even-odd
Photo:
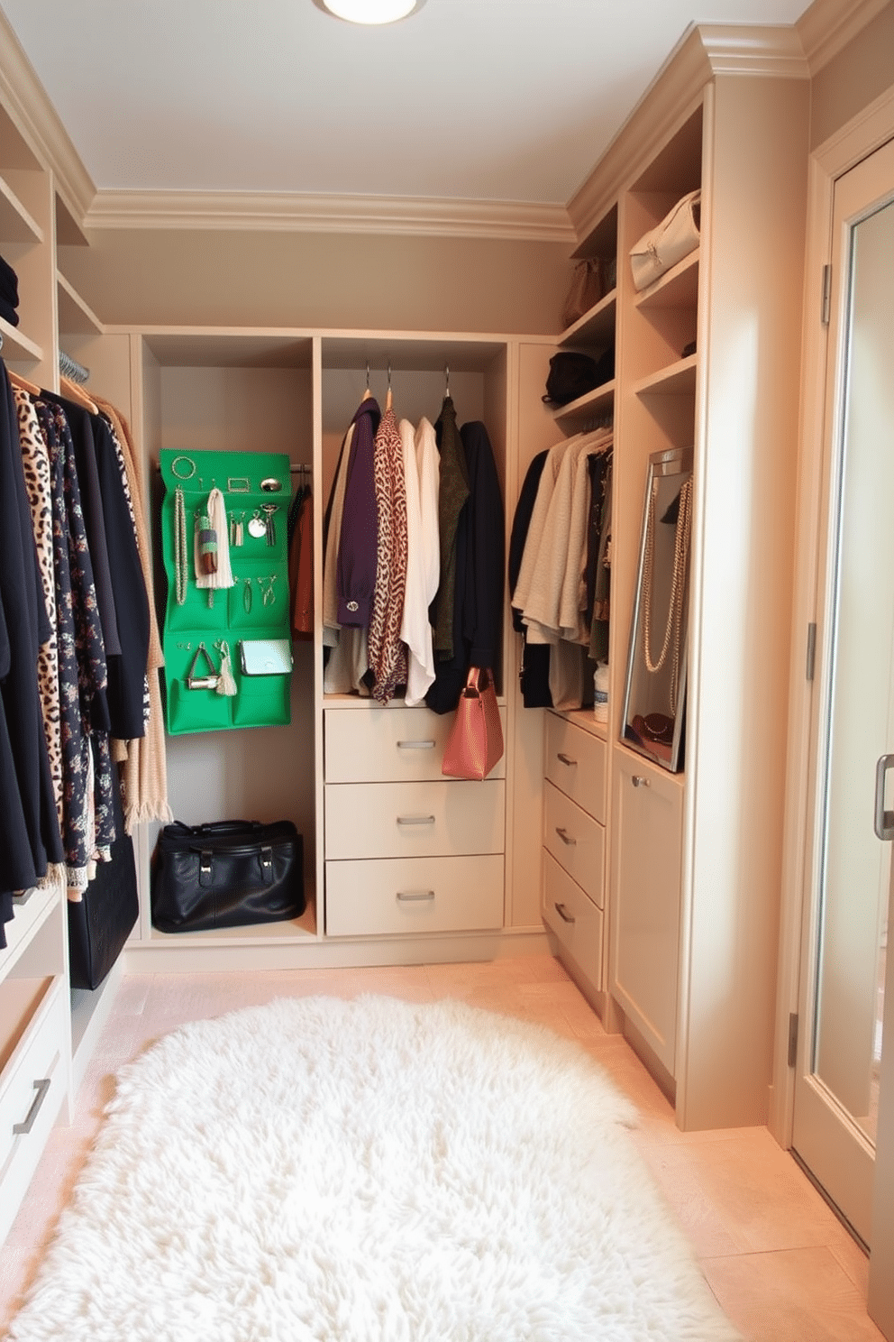
[{"label": "fluffy white shag rug on the floor", "polygon": [[740,1342],[578,1045],[277,1000],[126,1066],[11,1342]]}]

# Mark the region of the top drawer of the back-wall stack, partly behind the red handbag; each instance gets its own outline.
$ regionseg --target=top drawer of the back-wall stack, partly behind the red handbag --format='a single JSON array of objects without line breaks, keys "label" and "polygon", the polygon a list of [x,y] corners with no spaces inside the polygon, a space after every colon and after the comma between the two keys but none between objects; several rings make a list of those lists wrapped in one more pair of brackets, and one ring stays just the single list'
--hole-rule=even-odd
[{"label": "top drawer of the back-wall stack, partly behind the red handbag", "polygon": [[[505,738],[505,709],[503,734]],[[327,782],[413,782],[442,778],[452,713],[430,709],[327,709]],[[505,777],[505,758],[489,778]]]}]

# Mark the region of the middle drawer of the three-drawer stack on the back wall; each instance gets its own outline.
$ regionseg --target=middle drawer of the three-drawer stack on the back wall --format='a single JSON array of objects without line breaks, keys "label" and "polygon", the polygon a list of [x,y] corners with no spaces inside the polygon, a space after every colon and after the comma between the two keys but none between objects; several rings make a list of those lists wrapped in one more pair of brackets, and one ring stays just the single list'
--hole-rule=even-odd
[{"label": "middle drawer of the three-drawer stack on the back wall", "polygon": [[503,852],[504,782],[342,782],[326,788],[326,856]]}]

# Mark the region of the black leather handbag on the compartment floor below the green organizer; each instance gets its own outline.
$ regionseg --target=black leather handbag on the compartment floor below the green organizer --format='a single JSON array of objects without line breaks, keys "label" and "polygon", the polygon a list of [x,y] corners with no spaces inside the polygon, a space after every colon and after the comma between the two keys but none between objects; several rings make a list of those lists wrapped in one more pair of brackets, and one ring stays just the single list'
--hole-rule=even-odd
[{"label": "black leather handbag on the compartment floor below the green organizer", "polygon": [[291,820],[174,821],[151,860],[158,931],[212,931],[304,913],[303,841]]}]

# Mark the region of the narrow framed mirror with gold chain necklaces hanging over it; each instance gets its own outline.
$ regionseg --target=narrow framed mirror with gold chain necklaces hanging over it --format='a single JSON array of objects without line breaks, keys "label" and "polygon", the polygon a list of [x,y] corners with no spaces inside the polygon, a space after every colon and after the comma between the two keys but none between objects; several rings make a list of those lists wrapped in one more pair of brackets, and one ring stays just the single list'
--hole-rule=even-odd
[{"label": "narrow framed mirror with gold chain necklaces hanging over it", "polygon": [[682,769],[692,460],[692,447],[649,458],[622,725],[627,745],[672,773]]}]

